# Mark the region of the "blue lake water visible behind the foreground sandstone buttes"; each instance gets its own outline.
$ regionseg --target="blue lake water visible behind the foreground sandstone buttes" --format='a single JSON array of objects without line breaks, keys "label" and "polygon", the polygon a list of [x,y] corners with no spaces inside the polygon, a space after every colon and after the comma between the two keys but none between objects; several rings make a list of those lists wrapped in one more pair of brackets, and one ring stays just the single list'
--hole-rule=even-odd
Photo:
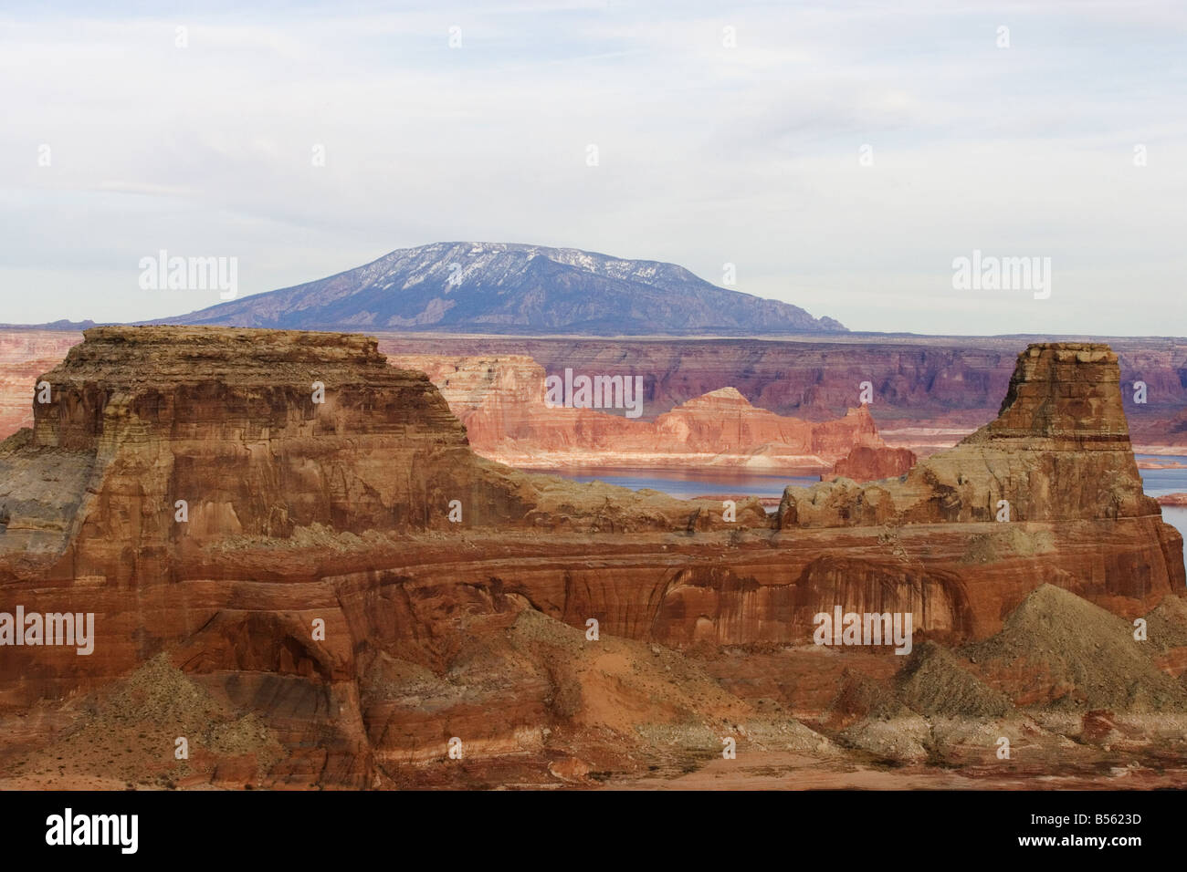
[{"label": "blue lake water visible behind the foreground sandstone buttes", "polygon": [[[1140,460],[1179,462],[1187,464],[1187,456],[1138,454]],[[680,499],[698,496],[745,495],[755,497],[780,497],[783,488],[789,484],[811,486],[820,480],[819,476],[796,475],[758,475],[745,470],[702,469],[702,470],[538,470],[554,476],[571,478],[575,482],[605,482],[631,490],[652,490],[671,494]],[[1163,494],[1187,492],[1187,469],[1181,470],[1141,470],[1145,492],[1151,497]],[[1183,534],[1187,540],[1187,507],[1163,505],[1162,518]]]}]

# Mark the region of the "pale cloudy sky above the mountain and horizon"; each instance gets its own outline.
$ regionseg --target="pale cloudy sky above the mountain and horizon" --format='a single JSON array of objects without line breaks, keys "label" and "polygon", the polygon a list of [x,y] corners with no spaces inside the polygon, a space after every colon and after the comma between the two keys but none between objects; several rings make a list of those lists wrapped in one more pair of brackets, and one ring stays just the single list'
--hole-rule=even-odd
[{"label": "pale cloudy sky above the mountain and horizon", "polygon": [[[142,288],[160,250],[242,297],[468,240],[853,330],[1187,335],[1179,0],[43,6],[0,9],[0,323],[220,301]],[[1049,293],[958,287],[975,250]]]}]

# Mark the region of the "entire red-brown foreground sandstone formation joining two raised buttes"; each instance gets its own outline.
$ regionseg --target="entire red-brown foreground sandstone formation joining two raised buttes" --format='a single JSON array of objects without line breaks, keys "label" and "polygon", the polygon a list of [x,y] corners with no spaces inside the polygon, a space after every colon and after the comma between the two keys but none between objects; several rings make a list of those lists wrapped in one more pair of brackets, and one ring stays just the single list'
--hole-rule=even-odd
[{"label": "entire red-brown foreground sandstone formation joining two raised buttes", "polygon": [[[977,643],[1028,626],[1005,618],[1040,587],[1124,631],[1185,586],[1100,345],[1032,345],[997,420],[897,479],[788,489],[776,516],[750,501],[735,523],[478,457],[432,382],[363,336],[100,327],[40,378],[51,402],[0,445],[0,610],[94,612],[96,638],[90,656],[4,650],[0,772],[151,715],[127,740],[141,769],[171,766],[190,730],[197,782],[391,785],[453,736],[469,759],[552,749],[550,772],[583,778],[578,736],[617,737],[583,753],[624,765],[643,721],[662,745],[654,725],[690,712],[754,715],[681,650],[804,645],[833,606],[909,611],[916,645]],[[108,695],[85,721],[71,706],[91,693]]]}]

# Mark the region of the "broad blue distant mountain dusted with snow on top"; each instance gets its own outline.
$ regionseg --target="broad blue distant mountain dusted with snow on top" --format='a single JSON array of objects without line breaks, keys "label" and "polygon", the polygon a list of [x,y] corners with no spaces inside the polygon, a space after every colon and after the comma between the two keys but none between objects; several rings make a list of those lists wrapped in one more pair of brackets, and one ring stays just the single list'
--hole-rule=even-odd
[{"label": "broad blue distant mountain dusted with snow on top", "polygon": [[754,336],[848,332],[684,267],[576,248],[437,242],[154,324],[345,331]]}]

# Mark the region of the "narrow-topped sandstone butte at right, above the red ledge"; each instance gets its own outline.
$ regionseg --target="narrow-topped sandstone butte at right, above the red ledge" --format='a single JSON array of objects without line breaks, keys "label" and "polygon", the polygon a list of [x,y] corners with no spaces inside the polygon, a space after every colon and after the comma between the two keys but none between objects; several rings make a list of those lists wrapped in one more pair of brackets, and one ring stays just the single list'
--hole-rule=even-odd
[{"label": "narrow-topped sandstone butte at right, above the red ledge", "polygon": [[1032,345],[997,419],[904,480],[788,488],[783,527],[1156,517],[1142,491],[1117,356],[1106,345]]}]

